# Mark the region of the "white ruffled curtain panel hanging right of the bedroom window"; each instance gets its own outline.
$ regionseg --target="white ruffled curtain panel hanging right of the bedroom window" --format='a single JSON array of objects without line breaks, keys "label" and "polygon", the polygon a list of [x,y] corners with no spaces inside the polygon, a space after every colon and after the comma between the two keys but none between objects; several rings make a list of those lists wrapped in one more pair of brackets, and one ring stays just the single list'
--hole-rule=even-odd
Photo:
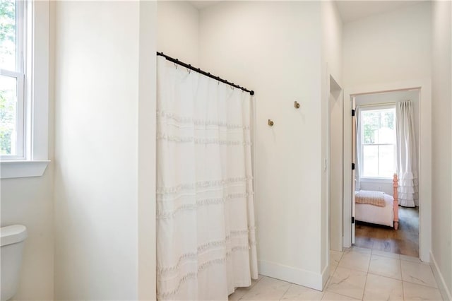
[{"label": "white ruffled curtain panel hanging right of the bedroom window", "polygon": [[396,106],[398,202],[401,206],[419,206],[417,145],[414,109],[410,100]]}]

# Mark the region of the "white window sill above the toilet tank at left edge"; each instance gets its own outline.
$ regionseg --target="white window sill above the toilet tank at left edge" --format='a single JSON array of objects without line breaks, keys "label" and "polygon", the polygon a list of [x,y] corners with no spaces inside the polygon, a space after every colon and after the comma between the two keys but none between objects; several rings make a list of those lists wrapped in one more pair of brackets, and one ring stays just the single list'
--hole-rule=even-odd
[{"label": "white window sill above the toilet tank at left edge", "polygon": [[0,179],[41,177],[50,160],[17,160],[0,162]]}]

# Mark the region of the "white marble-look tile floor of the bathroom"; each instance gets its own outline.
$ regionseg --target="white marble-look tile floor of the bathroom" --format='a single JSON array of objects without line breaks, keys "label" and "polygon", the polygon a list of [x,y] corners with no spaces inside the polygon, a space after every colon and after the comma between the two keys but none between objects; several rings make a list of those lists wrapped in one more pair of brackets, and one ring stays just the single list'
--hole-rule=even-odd
[{"label": "white marble-look tile floor of the bathroom", "polygon": [[330,263],[323,292],[259,276],[229,300],[442,300],[432,268],[415,257],[352,247],[331,251]]}]

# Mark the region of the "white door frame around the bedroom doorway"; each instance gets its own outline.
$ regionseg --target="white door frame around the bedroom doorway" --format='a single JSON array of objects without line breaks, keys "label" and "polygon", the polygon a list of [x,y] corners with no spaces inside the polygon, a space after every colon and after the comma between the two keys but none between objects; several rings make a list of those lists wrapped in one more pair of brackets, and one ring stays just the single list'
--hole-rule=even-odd
[{"label": "white door frame around the bedroom doorway", "polygon": [[432,244],[432,84],[420,80],[362,85],[344,90],[344,247],[352,245],[352,95],[420,89],[419,131],[419,244],[420,259],[430,261]]}]

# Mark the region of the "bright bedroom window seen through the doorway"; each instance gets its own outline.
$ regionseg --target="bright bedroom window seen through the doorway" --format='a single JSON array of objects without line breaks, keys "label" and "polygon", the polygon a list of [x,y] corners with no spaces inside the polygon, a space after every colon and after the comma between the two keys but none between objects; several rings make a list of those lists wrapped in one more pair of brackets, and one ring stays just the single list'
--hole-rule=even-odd
[{"label": "bright bedroom window seen through the doorway", "polygon": [[396,172],[396,107],[360,109],[362,177],[392,178]]}]

